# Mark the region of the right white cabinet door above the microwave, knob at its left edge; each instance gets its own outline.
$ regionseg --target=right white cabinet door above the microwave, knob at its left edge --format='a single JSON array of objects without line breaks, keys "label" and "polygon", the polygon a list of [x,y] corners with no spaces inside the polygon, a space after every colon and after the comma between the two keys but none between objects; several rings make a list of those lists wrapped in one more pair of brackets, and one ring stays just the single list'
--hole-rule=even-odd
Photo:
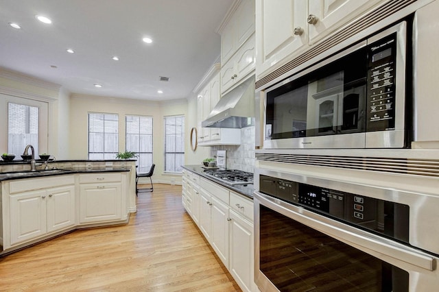
[{"label": "right white cabinet door above the microwave, knob at its left edge", "polygon": [[316,23],[309,23],[309,44],[328,36],[335,29],[352,21],[370,10],[380,0],[308,0],[309,16],[316,17]]}]

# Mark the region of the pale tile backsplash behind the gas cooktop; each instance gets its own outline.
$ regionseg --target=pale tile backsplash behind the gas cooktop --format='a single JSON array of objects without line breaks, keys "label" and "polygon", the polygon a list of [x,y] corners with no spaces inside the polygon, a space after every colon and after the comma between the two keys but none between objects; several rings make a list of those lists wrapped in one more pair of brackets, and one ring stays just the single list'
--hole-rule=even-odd
[{"label": "pale tile backsplash behind the gas cooktop", "polygon": [[239,146],[212,146],[211,157],[217,155],[217,150],[226,150],[227,168],[241,171],[254,172],[254,145],[255,127],[243,127],[241,129],[241,145]]}]

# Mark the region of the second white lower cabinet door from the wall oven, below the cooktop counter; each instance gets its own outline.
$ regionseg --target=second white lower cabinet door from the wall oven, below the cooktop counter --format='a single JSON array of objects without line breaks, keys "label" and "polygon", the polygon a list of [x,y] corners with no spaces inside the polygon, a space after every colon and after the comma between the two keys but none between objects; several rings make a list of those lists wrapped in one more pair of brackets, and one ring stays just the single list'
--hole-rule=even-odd
[{"label": "second white lower cabinet door from the wall oven, below the cooktop counter", "polygon": [[222,263],[228,268],[228,206],[215,197],[211,197],[212,233],[211,245]]}]

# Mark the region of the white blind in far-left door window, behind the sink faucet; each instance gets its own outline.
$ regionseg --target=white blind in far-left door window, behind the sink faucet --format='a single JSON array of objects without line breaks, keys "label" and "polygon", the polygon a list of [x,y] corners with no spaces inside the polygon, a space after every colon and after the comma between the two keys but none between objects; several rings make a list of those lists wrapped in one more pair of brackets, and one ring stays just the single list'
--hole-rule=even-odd
[{"label": "white blind in far-left door window, behind the sink faucet", "polygon": [[8,103],[8,153],[15,154],[16,160],[21,159],[28,144],[34,147],[35,157],[38,158],[39,120],[38,107]]}]

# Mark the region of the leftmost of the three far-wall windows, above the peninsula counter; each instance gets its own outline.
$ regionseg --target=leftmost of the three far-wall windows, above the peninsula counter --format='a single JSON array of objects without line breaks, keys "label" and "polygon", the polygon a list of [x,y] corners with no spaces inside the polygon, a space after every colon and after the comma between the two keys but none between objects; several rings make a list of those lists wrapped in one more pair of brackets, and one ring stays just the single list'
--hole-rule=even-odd
[{"label": "leftmost of the three far-wall windows, above the peninsula counter", "polygon": [[88,159],[115,159],[118,151],[117,114],[88,113]]}]

